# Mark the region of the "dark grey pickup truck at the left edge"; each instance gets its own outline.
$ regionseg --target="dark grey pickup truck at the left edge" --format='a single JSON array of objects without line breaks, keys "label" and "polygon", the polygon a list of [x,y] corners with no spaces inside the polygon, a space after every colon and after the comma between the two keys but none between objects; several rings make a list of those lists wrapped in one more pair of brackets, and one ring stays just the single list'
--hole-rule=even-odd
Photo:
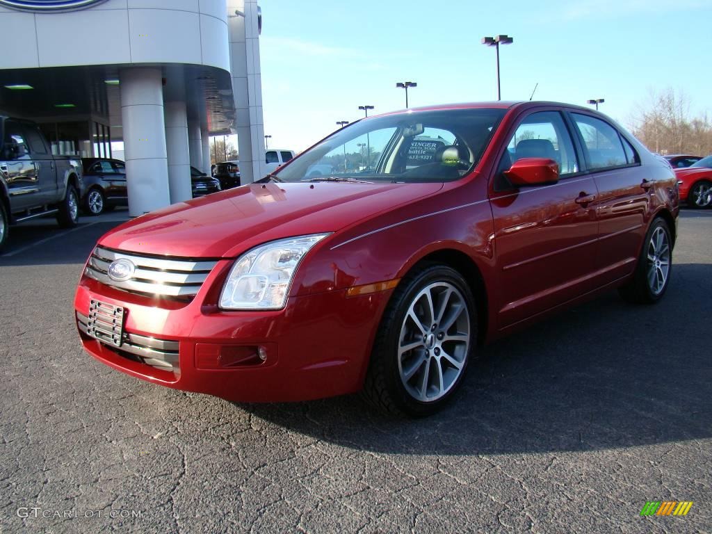
[{"label": "dark grey pickup truck at the left edge", "polygon": [[82,189],[78,158],[54,156],[39,127],[0,116],[0,251],[9,226],[55,215],[60,226],[76,226]]}]

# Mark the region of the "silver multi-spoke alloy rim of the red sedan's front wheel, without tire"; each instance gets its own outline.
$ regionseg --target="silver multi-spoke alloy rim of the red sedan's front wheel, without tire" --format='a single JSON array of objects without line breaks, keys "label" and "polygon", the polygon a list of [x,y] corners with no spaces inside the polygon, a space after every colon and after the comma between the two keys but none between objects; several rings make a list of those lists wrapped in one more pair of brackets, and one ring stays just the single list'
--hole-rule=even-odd
[{"label": "silver multi-spoke alloy rim of the red sedan's front wheel, without tire", "polygon": [[433,402],[462,374],[470,347],[470,315],[464,296],[447,282],[434,282],[412,300],[403,320],[398,370],[411,397]]}]

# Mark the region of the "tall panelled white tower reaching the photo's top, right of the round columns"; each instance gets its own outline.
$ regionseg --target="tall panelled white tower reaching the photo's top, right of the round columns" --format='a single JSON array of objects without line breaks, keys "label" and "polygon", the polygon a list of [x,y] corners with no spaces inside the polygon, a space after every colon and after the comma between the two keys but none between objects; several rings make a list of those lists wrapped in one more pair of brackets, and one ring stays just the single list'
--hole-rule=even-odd
[{"label": "tall panelled white tower reaching the photo's top, right of the round columns", "polygon": [[236,130],[243,184],[266,174],[262,118],[262,76],[256,0],[228,0],[230,69],[237,112]]}]

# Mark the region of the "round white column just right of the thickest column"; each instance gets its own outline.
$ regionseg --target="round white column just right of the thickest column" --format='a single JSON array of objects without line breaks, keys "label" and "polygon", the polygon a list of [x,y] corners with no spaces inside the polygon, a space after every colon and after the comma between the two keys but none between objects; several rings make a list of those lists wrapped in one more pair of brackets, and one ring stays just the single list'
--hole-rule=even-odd
[{"label": "round white column just right of the thickest column", "polygon": [[188,155],[188,115],[185,102],[167,102],[166,153],[171,203],[193,198]]}]

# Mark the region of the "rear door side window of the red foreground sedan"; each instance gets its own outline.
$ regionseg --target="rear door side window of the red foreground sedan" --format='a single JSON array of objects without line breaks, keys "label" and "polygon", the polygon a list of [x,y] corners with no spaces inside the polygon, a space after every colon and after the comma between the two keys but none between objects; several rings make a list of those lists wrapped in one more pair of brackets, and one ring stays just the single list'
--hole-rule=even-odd
[{"label": "rear door side window of the red foreground sedan", "polygon": [[[623,147],[614,127],[595,117],[572,113],[573,120],[584,142],[590,169],[624,167],[635,162],[635,152],[628,145],[629,154]],[[632,159],[629,162],[629,157]]]}]

